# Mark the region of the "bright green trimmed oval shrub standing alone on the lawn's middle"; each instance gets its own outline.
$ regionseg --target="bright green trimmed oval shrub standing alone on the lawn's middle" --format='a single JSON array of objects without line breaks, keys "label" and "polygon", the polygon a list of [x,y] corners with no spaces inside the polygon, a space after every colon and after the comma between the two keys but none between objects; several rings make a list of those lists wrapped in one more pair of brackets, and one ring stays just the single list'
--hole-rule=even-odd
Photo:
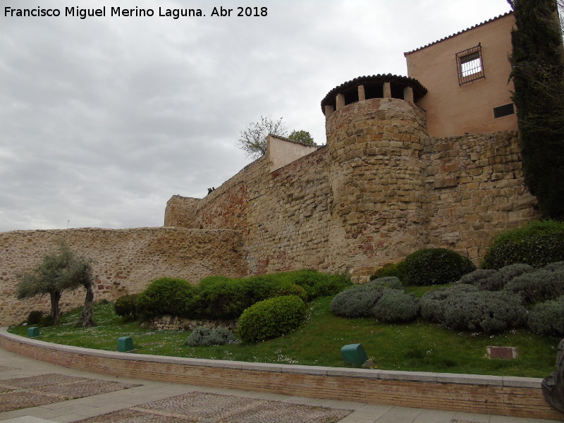
[{"label": "bright green trimmed oval shrub standing alone on the lawn's middle", "polygon": [[297,329],[305,320],[305,303],[296,295],[270,298],[245,309],[238,336],[245,343],[276,338]]}]

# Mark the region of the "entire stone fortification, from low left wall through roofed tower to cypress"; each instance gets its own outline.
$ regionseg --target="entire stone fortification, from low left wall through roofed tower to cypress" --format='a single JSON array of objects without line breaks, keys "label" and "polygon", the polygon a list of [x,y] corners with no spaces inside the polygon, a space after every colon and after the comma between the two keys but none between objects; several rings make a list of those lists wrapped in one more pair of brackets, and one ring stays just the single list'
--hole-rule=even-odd
[{"label": "entire stone fortification, from low left wall through roofed tower to cypress", "polygon": [[[47,311],[47,299],[21,302],[14,292],[18,274],[58,237],[96,260],[97,300],[140,292],[161,276],[196,283],[311,268],[364,282],[424,247],[478,263],[497,233],[539,217],[519,134],[430,137],[417,105],[425,92],[395,75],[336,87],[322,103],[326,145],[276,168],[281,142],[290,141],[277,139],[274,149],[269,138],[263,157],[207,197],[174,195],[164,228],[0,233],[0,324]],[[82,298],[64,294],[63,310]]]}]

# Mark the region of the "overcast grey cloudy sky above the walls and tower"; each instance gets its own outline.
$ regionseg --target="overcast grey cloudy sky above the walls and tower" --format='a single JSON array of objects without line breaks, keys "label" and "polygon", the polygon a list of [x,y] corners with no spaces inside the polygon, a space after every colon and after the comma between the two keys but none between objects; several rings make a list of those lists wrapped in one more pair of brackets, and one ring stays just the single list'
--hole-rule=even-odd
[{"label": "overcast grey cloudy sky above the walls and tower", "polygon": [[[505,0],[0,0],[0,232],[162,226],[250,163],[260,116],[325,143],[320,102],[404,51],[509,11]],[[6,16],[6,8],[59,17]],[[69,8],[106,16],[65,16]],[[111,7],[152,17],[110,16]],[[238,17],[238,6],[267,8]],[[159,7],[206,16],[160,17]],[[211,16],[232,8],[231,17]]]}]

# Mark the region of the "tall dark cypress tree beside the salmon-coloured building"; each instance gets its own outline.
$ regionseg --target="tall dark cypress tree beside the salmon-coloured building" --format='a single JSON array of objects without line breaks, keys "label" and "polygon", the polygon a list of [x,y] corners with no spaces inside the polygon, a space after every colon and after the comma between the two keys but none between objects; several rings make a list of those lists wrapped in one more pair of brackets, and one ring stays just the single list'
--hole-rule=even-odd
[{"label": "tall dark cypress tree beside the salmon-coloured building", "polygon": [[556,0],[513,0],[511,34],[525,183],[545,217],[564,220],[564,50]]}]

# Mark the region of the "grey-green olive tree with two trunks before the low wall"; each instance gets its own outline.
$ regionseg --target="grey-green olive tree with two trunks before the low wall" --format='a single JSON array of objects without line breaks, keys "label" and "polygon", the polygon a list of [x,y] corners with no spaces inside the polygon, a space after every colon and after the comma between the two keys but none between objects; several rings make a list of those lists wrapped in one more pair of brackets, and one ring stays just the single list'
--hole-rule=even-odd
[{"label": "grey-green olive tree with two trunks before the low wall", "polygon": [[51,318],[59,324],[59,300],[63,290],[86,289],[85,305],[82,308],[82,327],[94,326],[92,302],[92,264],[90,259],[71,251],[68,245],[59,241],[55,251],[45,255],[39,264],[19,278],[16,287],[18,300],[47,295],[51,300]]}]

